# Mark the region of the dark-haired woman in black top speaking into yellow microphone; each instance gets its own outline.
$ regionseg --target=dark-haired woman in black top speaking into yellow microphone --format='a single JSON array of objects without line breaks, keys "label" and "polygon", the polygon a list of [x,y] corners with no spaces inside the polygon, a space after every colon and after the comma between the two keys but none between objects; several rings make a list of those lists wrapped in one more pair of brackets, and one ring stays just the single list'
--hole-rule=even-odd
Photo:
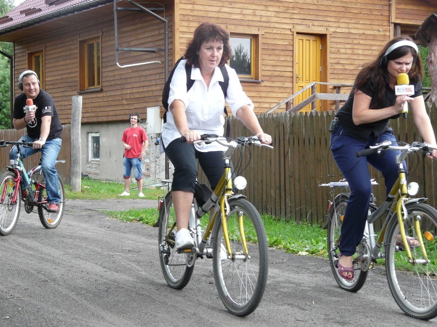
[{"label": "dark-haired woman in black top speaking into yellow microphone", "polygon": [[[409,77],[414,94],[395,95],[398,75]],[[331,151],[334,160],[350,186],[342,223],[339,253],[339,274],[346,280],[353,279],[352,255],[360,243],[369,209],[371,194],[368,163],[382,172],[387,194],[398,178],[395,156],[398,151],[382,155],[356,158],[355,152],[366,146],[389,140],[396,144],[390,119],[397,119],[405,102],[411,107],[415,126],[425,142],[434,145],[435,136],[425,110],[422,95],[422,62],[418,47],[409,36],[395,37],[384,46],[378,57],[366,64],[357,75],[348,100],[335,115],[338,123],[331,134]],[[430,158],[437,158],[433,150]],[[408,237],[410,246],[418,241]]]}]

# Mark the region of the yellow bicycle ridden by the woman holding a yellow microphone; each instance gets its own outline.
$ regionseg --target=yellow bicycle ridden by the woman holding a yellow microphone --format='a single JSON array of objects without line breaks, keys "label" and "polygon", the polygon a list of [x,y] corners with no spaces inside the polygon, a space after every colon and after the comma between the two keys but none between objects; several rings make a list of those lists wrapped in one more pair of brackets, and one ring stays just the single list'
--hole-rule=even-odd
[{"label": "yellow bicycle ridden by the woman holding a yellow microphone", "polygon": [[[419,185],[407,185],[404,161],[414,152],[429,154],[434,147],[427,143],[392,145],[390,141],[356,153],[357,157],[399,150],[396,157],[399,177],[388,197],[379,208],[370,199],[370,209],[363,239],[353,256],[354,278],[348,281],[337,271],[340,231],[347,200],[347,182],[322,184],[331,189],[344,187],[328,207],[328,255],[332,273],[339,286],[356,292],[362,288],[369,267],[377,259],[385,259],[388,285],[394,300],[409,316],[428,320],[437,316],[437,210],[424,203],[425,198],[415,198]],[[376,234],[373,223],[385,217],[381,232]],[[419,246],[412,246],[415,238]]]}]

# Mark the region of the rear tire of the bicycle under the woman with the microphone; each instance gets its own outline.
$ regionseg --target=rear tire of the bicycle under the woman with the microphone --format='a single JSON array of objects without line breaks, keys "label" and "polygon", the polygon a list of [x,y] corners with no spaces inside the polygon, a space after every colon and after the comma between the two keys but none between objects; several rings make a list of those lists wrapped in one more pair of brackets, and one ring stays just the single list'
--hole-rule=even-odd
[{"label": "rear tire of the bicycle under the woman with the microphone", "polygon": [[[328,213],[328,256],[329,265],[331,266],[332,274],[337,284],[344,290],[349,292],[359,291],[366,281],[368,271],[362,271],[359,264],[354,264],[353,280],[346,280],[340,276],[338,271],[338,258],[339,258],[339,244],[341,225],[343,222],[343,216],[346,209],[347,200],[349,197],[340,193],[334,198],[333,205]],[[354,255],[354,257],[356,254]]]}]

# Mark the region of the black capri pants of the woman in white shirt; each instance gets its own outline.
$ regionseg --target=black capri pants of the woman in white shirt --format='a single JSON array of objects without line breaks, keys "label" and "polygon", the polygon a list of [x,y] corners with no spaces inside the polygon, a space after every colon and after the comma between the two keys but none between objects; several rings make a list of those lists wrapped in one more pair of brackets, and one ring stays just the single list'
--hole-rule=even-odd
[{"label": "black capri pants of the woman in white shirt", "polygon": [[[163,144],[164,146],[164,144]],[[194,193],[197,178],[196,159],[214,190],[223,175],[225,160],[223,151],[197,151],[194,144],[175,139],[165,147],[165,154],[174,166],[172,191],[188,191]]]}]

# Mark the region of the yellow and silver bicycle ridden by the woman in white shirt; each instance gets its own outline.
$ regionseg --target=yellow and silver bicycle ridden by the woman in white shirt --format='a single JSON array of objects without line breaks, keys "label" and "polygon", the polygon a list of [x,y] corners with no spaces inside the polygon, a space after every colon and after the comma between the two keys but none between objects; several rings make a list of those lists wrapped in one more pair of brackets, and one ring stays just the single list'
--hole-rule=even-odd
[{"label": "yellow and silver bicycle ridden by the woman in white shirt", "polygon": [[[257,137],[232,140],[203,135],[198,142],[218,142],[228,149],[224,153],[225,169],[213,192],[195,193],[189,230],[195,249],[174,250],[176,217],[171,191],[160,203],[158,248],[161,268],[167,284],[183,289],[189,282],[197,258],[212,258],[215,285],[229,312],[237,316],[252,313],[261,301],[267,282],[268,241],[260,213],[234,189],[244,189],[246,180],[232,178],[231,156],[236,149],[262,144]],[[272,147],[271,147],[272,148]],[[164,180],[164,183],[171,183]],[[203,186],[206,186],[203,184]],[[196,183],[196,189],[201,184]],[[212,214],[206,215],[210,210]],[[202,227],[201,219],[208,219]],[[208,217],[208,218],[207,218]]]}]

